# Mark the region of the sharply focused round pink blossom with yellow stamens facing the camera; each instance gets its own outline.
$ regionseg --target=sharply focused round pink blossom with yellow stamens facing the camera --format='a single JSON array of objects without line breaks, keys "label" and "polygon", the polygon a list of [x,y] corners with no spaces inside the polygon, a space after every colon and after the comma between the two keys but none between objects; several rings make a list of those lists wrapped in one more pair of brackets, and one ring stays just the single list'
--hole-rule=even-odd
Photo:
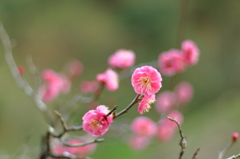
[{"label": "sharply focused round pink blossom with yellow stamens facing the camera", "polygon": [[134,91],[145,96],[157,93],[162,87],[161,81],[161,74],[151,66],[137,68],[131,78]]}]

